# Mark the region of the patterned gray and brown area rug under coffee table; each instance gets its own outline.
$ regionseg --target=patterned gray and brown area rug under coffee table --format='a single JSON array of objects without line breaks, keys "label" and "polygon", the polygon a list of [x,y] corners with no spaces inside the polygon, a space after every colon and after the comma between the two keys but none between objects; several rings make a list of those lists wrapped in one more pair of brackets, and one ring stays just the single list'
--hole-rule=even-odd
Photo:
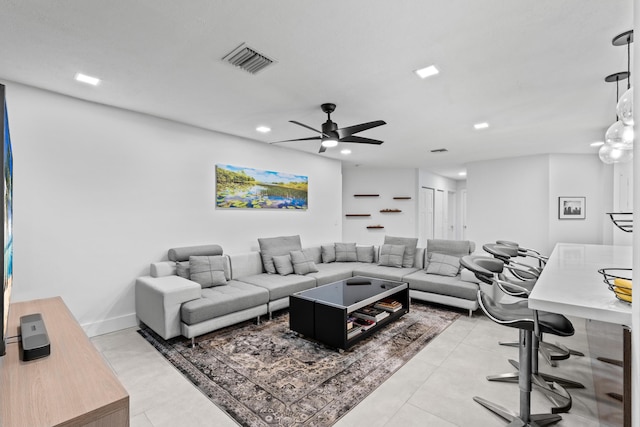
[{"label": "patterned gray and brown area rug under coffee table", "polygon": [[139,331],[219,408],[243,426],[330,426],[460,314],[412,303],[410,312],[345,352],[299,337],[283,311],[197,339]]}]

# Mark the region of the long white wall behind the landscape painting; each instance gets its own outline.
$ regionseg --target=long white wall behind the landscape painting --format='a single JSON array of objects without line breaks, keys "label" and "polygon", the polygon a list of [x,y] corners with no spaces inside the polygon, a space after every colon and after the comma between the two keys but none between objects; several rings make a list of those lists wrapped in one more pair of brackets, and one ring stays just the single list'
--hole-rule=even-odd
[{"label": "long white wall behind the landscape painting", "polygon": [[[232,253],[257,249],[258,237],[341,240],[338,161],[18,84],[7,84],[7,99],[12,298],[60,295],[90,335],[135,324],[135,278],[171,247],[218,243]],[[309,209],[216,210],[216,163],[307,175]]]}]

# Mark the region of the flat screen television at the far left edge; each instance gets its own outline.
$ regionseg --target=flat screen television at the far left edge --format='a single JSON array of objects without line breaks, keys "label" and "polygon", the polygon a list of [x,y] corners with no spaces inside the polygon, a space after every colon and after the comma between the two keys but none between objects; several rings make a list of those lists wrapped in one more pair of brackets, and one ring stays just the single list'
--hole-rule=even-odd
[{"label": "flat screen television at the far left edge", "polygon": [[11,286],[13,284],[13,155],[11,138],[9,137],[9,117],[5,86],[0,84],[0,115],[2,115],[2,176],[4,177],[4,203],[2,209],[2,240],[4,243],[4,257],[2,260],[2,317],[0,318],[0,356],[6,353],[7,321],[9,319],[9,302],[11,301]]}]

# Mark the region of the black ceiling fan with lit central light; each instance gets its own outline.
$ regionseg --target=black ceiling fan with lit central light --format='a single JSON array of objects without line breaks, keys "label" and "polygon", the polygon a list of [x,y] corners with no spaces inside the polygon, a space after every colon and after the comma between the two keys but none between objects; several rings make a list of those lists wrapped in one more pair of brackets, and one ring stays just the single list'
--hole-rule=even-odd
[{"label": "black ceiling fan with lit central light", "polygon": [[322,124],[322,131],[312,128],[311,126],[307,126],[304,123],[296,122],[295,120],[289,120],[291,123],[294,123],[298,126],[302,126],[303,128],[307,128],[316,133],[319,133],[318,136],[312,136],[309,138],[298,138],[298,139],[287,139],[285,141],[276,141],[271,144],[278,144],[280,142],[292,142],[292,141],[311,141],[311,140],[320,140],[322,143],[320,144],[319,153],[324,153],[327,151],[329,147],[335,147],[339,142],[354,142],[358,144],[375,144],[380,145],[383,141],[379,141],[377,139],[365,138],[362,136],[354,136],[354,134],[358,132],[365,131],[367,129],[371,129],[374,127],[386,125],[386,122],[383,120],[376,120],[374,122],[368,123],[360,123],[359,125],[348,126],[346,128],[338,129],[338,124],[331,121],[331,113],[333,113],[336,109],[336,104],[322,104],[320,106],[322,111],[327,113],[327,121]]}]

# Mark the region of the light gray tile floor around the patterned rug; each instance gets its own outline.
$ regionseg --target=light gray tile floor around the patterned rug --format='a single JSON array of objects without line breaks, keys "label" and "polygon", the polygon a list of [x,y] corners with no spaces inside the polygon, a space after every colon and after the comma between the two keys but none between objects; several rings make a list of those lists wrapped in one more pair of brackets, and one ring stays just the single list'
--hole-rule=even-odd
[{"label": "light gray tile floor around the patterned rug", "polygon": [[[582,319],[572,321],[576,334],[562,338],[562,343],[587,356],[572,356],[556,368],[541,360],[540,366],[544,372],[580,381],[587,387],[570,390],[573,407],[555,425],[620,426],[622,405],[605,392],[621,391],[621,369],[595,359],[619,358],[619,353],[612,350],[622,341],[618,328]],[[489,374],[513,371],[507,359],[517,360],[517,349],[497,342],[516,339],[515,329],[497,325],[479,312],[473,317],[461,316],[335,425],[506,425],[472,397],[482,396],[517,412],[517,384],[485,379]],[[129,392],[132,427],[237,426],[135,328],[94,337],[92,341]],[[533,412],[548,412],[550,404],[534,390],[532,408]]]}]

